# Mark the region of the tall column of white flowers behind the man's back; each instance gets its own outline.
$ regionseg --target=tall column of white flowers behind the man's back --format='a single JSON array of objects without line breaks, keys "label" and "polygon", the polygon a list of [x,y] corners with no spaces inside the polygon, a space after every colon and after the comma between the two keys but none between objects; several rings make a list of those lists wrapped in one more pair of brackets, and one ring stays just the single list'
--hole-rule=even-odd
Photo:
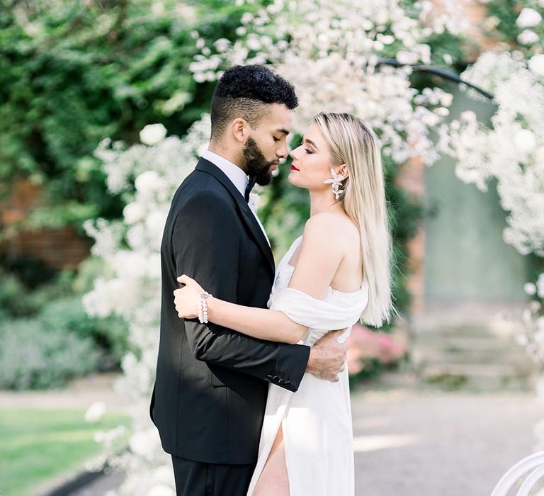
[{"label": "tall column of white flowers behind the man's back", "polygon": [[165,135],[161,125],[150,125],[140,133],[145,145],[125,149],[123,143],[109,140],[99,145],[96,155],[103,161],[108,189],[121,194],[127,205],[123,219],[98,219],[85,225],[95,239],[92,252],[104,263],[103,276],[84,296],[86,311],[124,317],[133,350],[124,356],[123,378],[116,384],[118,393],[128,396],[132,405],[134,434],[129,450],[121,455],[108,452],[123,429],[96,436],[106,448],[98,462],[108,459],[129,475],[118,490],[120,495],[174,495],[171,461],[149,419],[159,344],[160,245],[171,198],[208,144],[209,116],[194,123],[182,140]]}]

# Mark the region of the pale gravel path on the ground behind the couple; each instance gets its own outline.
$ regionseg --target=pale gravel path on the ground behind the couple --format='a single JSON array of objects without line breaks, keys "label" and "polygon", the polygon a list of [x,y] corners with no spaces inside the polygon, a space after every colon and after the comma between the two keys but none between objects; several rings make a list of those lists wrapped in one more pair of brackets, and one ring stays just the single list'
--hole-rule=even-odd
[{"label": "pale gravel path on the ground behind the couple", "polygon": [[[53,398],[0,393],[0,404],[75,407],[101,399],[123,408],[108,390],[112,381],[76,383]],[[394,374],[356,388],[352,410],[357,496],[489,496],[509,467],[533,453],[533,429],[544,419],[531,392],[445,393]],[[101,477],[71,496],[103,496],[120,480]]]}]

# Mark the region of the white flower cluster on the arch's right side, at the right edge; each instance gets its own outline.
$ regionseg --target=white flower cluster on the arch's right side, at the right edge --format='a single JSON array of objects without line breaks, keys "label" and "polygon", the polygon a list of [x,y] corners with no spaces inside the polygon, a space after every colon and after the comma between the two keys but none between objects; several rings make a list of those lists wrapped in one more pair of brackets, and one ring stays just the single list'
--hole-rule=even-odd
[{"label": "white flower cluster on the arch's right side, at the right edge", "polygon": [[487,191],[497,180],[502,208],[509,212],[504,241],[521,254],[544,255],[543,77],[508,52],[487,52],[463,77],[495,96],[492,127],[465,111],[450,127],[455,172]]}]

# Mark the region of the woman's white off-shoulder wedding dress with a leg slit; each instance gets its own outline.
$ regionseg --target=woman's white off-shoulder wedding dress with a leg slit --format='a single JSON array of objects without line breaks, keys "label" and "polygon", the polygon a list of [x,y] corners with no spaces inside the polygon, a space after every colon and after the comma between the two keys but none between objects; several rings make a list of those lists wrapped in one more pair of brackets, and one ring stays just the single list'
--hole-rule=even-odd
[{"label": "woman's white off-shoulder wedding dress with a leg slit", "polygon": [[[268,308],[285,312],[291,320],[308,327],[300,344],[312,346],[332,329],[351,327],[368,303],[368,283],[344,293],[329,286],[323,300],[288,288],[294,267],[288,263],[300,244],[295,239],[278,264]],[[283,428],[285,463],[290,496],[353,496],[353,429],[347,366],[339,381],[324,381],[305,373],[296,393],[270,384],[259,457],[249,484],[248,496],[271,451],[279,427]]]}]

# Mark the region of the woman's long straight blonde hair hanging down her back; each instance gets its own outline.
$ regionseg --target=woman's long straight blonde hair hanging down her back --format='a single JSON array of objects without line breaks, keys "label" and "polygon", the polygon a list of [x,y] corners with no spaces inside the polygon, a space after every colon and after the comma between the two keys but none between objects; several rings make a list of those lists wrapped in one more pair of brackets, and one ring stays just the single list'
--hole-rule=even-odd
[{"label": "woman's long straight blonde hair hanging down her back", "polygon": [[385,199],[380,140],[363,121],[348,113],[314,117],[331,147],[334,165],[346,164],[339,201],[361,235],[363,274],[368,281],[368,305],[361,322],[380,327],[397,314],[391,298],[392,237]]}]

